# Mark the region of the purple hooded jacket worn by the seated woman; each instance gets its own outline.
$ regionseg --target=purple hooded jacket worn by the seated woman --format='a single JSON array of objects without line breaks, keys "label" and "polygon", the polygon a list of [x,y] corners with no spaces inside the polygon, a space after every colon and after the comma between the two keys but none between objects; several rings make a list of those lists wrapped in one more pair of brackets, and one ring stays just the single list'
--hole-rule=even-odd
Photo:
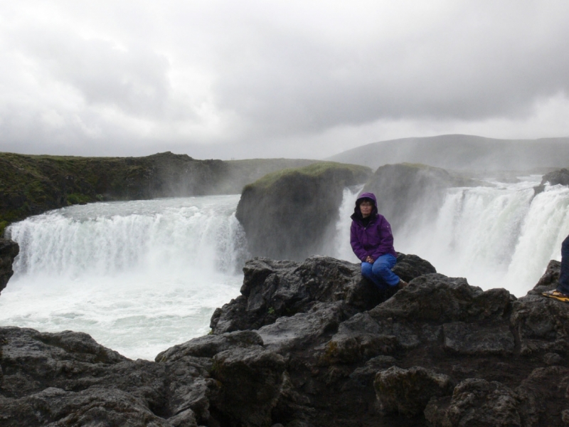
[{"label": "purple hooded jacket worn by the seated woman", "polygon": [[[359,207],[359,202],[364,198],[373,200],[374,205],[371,211],[371,221],[366,227],[361,222],[363,218]],[[378,202],[373,193],[363,193],[358,197],[351,219],[350,244],[353,253],[360,260],[365,261],[368,256],[376,260],[386,253],[397,257],[393,248],[391,226],[383,215],[378,214]]]}]

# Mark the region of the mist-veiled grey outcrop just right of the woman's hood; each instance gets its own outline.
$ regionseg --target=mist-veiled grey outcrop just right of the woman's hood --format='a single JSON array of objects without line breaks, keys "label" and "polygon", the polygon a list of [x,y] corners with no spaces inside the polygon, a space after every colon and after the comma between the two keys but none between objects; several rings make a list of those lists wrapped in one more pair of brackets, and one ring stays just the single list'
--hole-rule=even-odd
[{"label": "mist-veiled grey outcrop just right of the woman's hood", "polygon": [[379,212],[397,230],[405,223],[415,226],[425,218],[436,217],[450,187],[481,184],[425,164],[385,164],[371,176],[363,191],[376,195]]}]

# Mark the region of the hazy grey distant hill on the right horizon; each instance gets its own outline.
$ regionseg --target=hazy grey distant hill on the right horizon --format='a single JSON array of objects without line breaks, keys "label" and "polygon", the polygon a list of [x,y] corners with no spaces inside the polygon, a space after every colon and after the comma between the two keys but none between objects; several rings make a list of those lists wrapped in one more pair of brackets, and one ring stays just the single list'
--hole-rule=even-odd
[{"label": "hazy grey distant hill on the right horizon", "polygon": [[569,165],[569,137],[494,139],[440,135],[391,139],[350,149],[326,160],[372,169],[402,162],[472,171],[560,168]]}]

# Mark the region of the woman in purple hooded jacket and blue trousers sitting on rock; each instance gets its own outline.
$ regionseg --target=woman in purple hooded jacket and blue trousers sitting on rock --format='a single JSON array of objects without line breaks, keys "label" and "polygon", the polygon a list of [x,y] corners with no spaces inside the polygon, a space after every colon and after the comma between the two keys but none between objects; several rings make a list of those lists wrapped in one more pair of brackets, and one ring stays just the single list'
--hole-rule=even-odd
[{"label": "woman in purple hooded jacket and blue trousers sitting on rock", "polygon": [[361,260],[361,275],[381,290],[390,286],[405,288],[407,283],[391,271],[397,256],[393,248],[393,234],[385,217],[378,214],[373,193],[363,193],[358,197],[351,219],[350,243],[353,253]]}]

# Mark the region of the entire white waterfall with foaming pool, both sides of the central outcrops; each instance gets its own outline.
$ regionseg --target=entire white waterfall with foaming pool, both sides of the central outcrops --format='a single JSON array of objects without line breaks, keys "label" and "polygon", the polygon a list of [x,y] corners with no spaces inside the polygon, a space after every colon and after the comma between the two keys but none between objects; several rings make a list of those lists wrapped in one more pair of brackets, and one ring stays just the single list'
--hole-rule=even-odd
[{"label": "entire white waterfall with foaming pool, both sides of the central outcrops", "polygon": [[[483,289],[525,295],[569,234],[569,189],[541,176],[449,189],[435,216],[402,213],[395,250]],[[345,189],[324,255],[358,260]],[[153,359],[206,334],[216,307],[239,295],[248,257],[235,219],[239,195],[70,206],[12,224],[21,252],[0,297],[0,325],[87,332],[131,358]],[[425,211],[432,211],[425,209]],[[388,218],[389,219],[389,218]]]}]

